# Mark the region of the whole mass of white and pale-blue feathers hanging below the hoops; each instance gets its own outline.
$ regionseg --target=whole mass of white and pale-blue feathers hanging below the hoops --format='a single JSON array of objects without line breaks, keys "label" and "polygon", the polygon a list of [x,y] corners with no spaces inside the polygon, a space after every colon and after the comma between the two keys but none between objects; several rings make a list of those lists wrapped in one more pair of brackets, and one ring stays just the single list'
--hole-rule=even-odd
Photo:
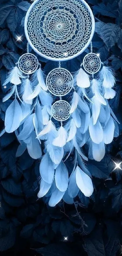
[{"label": "whole mass of white and pale-blue feathers hanging below the hoops", "polygon": [[[112,89],[115,78],[111,69],[103,67],[99,78],[92,77],[90,80],[81,68],[74,81],[69,102],[70,118],[64,123],[52,120],[54,99],[47,91],[41,68],[29,78],[15,67],[4,83],[11,82],[13,86],[3,102],[15,94],[15,99],[6,110],[4,132],[15,131],[20,142],[16,157],[28,150],[32,158],[41,159],[38,197],[48,197],[51,207],[61,199],[73,204],[79,190],[85,197],[92,195],[92,177],[84,164],[88,158],[82,147],[87,144],[88,157],[101,161],[105,145],[119,135],[118,120],[108,103],[108,99],[115,96]],[[69,175],[67,161],[72,152],[75,158]]]}]

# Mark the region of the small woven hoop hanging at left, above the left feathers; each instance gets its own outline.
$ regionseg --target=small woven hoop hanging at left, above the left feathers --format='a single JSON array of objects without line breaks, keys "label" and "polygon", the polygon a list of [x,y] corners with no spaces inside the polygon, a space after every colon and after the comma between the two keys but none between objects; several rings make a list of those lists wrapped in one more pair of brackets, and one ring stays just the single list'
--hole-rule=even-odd
[{"label": "small woven hoop hanging at left, above the left feathers", "polygon": [[25,53],[18,60],[18,68],[24,74],[32,74],[38,68],[38,59],[34,54]]}]

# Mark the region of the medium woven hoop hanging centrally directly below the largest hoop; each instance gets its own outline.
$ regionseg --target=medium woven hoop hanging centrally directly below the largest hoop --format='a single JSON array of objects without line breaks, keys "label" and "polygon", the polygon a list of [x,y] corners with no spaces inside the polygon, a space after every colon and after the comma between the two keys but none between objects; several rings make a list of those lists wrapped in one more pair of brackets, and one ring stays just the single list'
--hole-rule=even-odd
[{"label": "medium woven hoop hanging centrally directly below the largest hoop", "polygon": [[49,92],[53,95],[64,96],[68,94],[73,87],[73,77],[68,70],[55,68],[48,74],[46,85]]}]

